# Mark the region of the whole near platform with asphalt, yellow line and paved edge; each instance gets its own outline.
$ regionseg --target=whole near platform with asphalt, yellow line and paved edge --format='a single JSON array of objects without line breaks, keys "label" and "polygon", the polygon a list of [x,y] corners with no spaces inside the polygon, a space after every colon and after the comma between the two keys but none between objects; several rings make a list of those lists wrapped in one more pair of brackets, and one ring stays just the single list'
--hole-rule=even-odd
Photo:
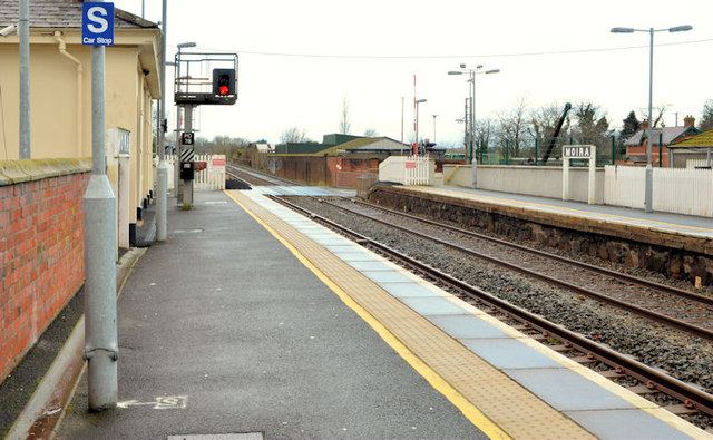
[{"label": "whole near platform with asphalt, yellow line and paved edge", "polygon": [[81,379],[57,439],[712,438],[266,190],[169,209],[118,301],[119,405]]}]

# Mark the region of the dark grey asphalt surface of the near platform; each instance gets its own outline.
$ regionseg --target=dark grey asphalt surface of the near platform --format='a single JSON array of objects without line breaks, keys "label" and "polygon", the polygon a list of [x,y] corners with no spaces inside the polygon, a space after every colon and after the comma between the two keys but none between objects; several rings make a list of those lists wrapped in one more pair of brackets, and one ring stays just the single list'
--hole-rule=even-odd
[{"label": "dark grey asphalt surface of the near platform", "polygon": [[226,194],[168,221],[119,299],[119,408],[82,379],[57,438],[485,438]]}]

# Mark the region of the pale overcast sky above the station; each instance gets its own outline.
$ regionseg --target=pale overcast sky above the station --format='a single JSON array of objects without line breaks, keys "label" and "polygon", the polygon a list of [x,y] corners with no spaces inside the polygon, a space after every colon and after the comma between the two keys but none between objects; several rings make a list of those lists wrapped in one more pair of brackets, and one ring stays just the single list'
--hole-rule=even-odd
[{"label": "pale overcast sky above the station", "polygon": [[[115,0],[141,16],[141,0]],[[144,0],[160,21],[162,1]],[[466,76],[476,76],[476,119],[497,119],[520,101],[528,109],[593,102],[612,128],[648,107],[648,29],[654,33],[653,106],[666,126],[700,118],[713,99],[713,1],[688,0],[168,0],[167,59],[185,51],[238,55],[234,106],[201,106],[197,136],[280,141],[291,127],[313,140],[338,133],[344,100],[352,135],[372,129],[404,141],[462,143]],[[646,32],[612,33],[613,27]],[[167,67],[168,90],[173,68]],[[414,91],[416,77],[416,91]],[[168,120],[175,121],[173,94]],[[402,124],[403,115],[403,124]],[[437,115],[433,117],[433,115]]]}]

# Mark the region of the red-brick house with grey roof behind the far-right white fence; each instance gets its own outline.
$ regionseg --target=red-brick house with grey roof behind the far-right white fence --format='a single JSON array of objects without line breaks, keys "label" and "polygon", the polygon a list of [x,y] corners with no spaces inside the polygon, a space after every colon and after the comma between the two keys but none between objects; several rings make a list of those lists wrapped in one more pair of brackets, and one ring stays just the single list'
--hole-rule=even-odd
[{"label": "red-brick house with grey roof behind the far-right white fence", "polygon": [[[654,166],[668,167],[668,145],[687,139],[692,136],[701,134],[701,130],[694,127],[695,118],[686,116],[683,119],[683,127],[655,127],[652,129],[651,157]],[[646,145],[648,136],[648,121],[643,121],[641,129],[636,131],[632,137],[626,139],[624,146],[626,147],[626,160],[627,165],[641,165],[645,166],[647,162]],[[661,155],[660,155],[661,151]]]}]

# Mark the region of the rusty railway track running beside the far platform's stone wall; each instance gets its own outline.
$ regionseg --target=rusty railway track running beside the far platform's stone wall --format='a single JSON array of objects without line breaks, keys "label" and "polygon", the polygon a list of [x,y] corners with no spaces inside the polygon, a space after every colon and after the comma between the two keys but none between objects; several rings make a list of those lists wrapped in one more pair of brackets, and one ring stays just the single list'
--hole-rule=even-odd
[{"label": "rusty railway track running beside the far platform's stone wall", "polygon": [[711,296],[362,202],[321,203],[713,342]]}]

